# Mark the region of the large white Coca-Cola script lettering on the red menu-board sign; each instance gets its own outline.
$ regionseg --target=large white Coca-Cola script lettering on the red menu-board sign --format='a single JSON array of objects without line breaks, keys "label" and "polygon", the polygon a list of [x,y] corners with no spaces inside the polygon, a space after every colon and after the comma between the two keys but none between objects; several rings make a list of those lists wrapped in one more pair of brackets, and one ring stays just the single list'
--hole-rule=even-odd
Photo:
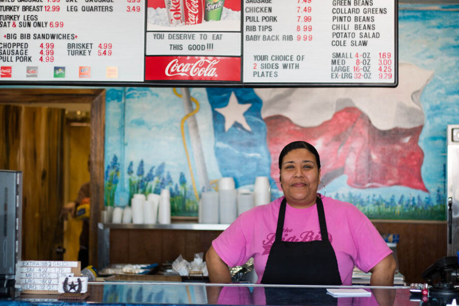
[{"label": "large white Coca-Cola script lettering on the red menu-board sign", "polygon": [[201,59],[195,63],[179,63],[179,60],[174,59],[166,66],[166,75],[182,75],[182,77],[218,77],[217,60]]}]

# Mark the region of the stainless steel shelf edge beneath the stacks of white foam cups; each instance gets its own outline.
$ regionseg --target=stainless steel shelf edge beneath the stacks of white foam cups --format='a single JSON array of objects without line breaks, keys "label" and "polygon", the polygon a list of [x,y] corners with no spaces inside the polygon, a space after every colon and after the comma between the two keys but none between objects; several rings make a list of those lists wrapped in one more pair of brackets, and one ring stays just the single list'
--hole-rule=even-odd
[{"label": "stainless steel shelf edge beneath the stacks of white foam cups", "polygon": [[224,231],[230,224],[205,223],[171,223],[171,224],[133,224],[133,223],[98,223],[100,230],[105,228],[129,230],[195,230],[195,231]]}]

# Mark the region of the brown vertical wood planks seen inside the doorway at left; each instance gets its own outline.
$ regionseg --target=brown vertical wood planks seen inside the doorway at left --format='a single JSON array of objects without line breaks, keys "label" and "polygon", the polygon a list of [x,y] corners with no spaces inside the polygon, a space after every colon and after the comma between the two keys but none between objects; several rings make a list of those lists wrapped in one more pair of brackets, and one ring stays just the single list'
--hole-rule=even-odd
[{"label": "brown vertical wood planks seen inside the doorway at left", "polygon": [[0,105],[0,114],[0,163],[22,171],[22,259],[62,260],[64,110]]}]

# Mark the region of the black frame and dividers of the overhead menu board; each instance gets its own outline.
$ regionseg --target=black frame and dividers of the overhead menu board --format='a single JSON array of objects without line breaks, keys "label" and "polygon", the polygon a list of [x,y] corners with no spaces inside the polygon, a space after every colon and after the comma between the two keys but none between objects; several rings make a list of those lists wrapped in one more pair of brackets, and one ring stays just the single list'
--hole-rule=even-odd
[{"label": "black frame and dividers of the overhead menu board", "polygon": [[[117,1],[117,0],[114,0]],[[274,0],[275,1],[275,0]],[[398,86],[398,0],[394,2],[394,56],[393,60],[393,83],[324,83],[324,82],[266,82],[266,83],[254,83],[244,81],[244,2],[241,0],[241,17],[240,17],[240,41],[241,41],[241,53],[240,56],[225,56],[224,58],[240,58],[240,80],[241,81],[214,81],[214,80],[145,80],[146,75],[146,62],[147,58],[147,12],[148,12],[148,0],[144,0],[144,50],[143,50],[143,81],[34,81],[34,80],[5,80],[0,79],[0,86],[84,86],[84,87],[233,87],[233,88],[272,88],[272,87],[388,87],[393,88]],[[213,33],[215,31],[197,31],[205,33]],[[192,55],[190,55],[192,56]],[[199,55],[197,55],[199,56]],[[169,56],[170,58],[174,55]],[[180,57],[180,56],[176,56]],[[182,55],[183,57],[183,55]],[[202,57],[205,57],[202,55]]]}]

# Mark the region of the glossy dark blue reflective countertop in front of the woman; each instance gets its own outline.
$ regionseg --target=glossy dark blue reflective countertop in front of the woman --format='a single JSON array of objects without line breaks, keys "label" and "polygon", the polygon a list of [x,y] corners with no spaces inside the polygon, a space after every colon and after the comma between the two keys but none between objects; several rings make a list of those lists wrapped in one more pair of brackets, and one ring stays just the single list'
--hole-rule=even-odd
[{"label": "glossy dark blue reflective countertop in front of the woman", "polygon": [[[370,297],[333,297],[327,288],[364,288]],[[57,295],[21,294],[0,298],[0,305],[446,305],[452,298],[411,295],[407,287],[215,285],[203,283],[90,282],[85,301],[61,301]]]}]

